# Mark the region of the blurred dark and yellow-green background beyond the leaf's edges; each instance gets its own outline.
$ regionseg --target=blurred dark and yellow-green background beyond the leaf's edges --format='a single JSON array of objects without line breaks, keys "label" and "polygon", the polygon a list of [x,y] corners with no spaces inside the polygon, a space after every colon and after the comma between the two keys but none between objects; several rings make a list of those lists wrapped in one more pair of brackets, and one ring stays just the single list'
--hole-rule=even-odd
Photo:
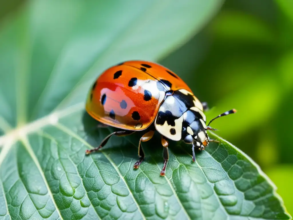
[{"label": "blurred dark and yellow-green background beyond the leaf's edges", "polygon": [[[1,3],[0,19],[21,1]],[[217,134],[248,154],[293,213],[293,1],[227,0],[188,43],[159,61],[218,119]]]}]

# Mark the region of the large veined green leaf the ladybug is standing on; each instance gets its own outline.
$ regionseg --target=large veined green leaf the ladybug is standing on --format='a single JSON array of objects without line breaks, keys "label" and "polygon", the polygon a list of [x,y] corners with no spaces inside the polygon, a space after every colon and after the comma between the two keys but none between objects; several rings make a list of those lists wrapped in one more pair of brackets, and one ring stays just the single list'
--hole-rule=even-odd
[{"label": "large veined green leaf the ladybug is standing on", "polygon": [[[222,1],[30,1],[0,31],[0,219],[289,219],[274,185],[230,143],[197,153],[113,137],[84,111],[93,80],[185,43]],[[153,147],[152,147],[153,146]],[[157,147],[159,146],[159,147]]]}]

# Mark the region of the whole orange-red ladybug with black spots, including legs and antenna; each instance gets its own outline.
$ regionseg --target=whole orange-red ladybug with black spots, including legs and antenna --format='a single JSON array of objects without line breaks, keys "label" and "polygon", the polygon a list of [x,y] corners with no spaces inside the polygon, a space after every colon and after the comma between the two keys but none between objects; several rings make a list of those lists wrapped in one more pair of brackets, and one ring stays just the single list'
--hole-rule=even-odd
[{"label": "whole orange-red ladybug with black spots, including legs and antenna", "polygon": [[139,140],[137,169],[144,159],[142,142],[149,141],[155,131],[161,134],[165,175],[169,159],[168,140],[183,140],[192,144],[193,161],[195,148],[204,150],[210,140],[207,130],[216,130],[209,124],[221,116],[236,112],[226,111],[212,119],[206,126],[204,110],[191,89],[171,70],[153,62],[133,60],[120,63],[105,70],[91,87],[86,111],[103,126],[120,128],[108,135],[100,146],[86,150],[86,154],[102,148],[112,135],[127,136],[145,131]]}]

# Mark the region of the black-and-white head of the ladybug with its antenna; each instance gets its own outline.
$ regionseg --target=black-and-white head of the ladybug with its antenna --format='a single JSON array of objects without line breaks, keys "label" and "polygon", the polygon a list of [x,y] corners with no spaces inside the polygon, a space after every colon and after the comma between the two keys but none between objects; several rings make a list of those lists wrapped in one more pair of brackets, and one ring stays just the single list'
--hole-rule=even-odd
[{"label": "black-and-white head of the ladybug with its antenna", "polygon": [[223,114],[218,115],[217,117],[213,118],[208,125],[205,125],[205,122],[202,119],[196,118],[192,123],[189,124],[186,128],[183,127],[183,130],[185,130],[185,137],[183,141],[185,143],[194,144],[195,148],[198,148],[199,150],[204,150],[205,147],[209,144],[209,136],[207,134],[207,130],[217,130],[214,128],[211,128],[209,124],[214,121],[215,119],[233,114],[236,110],[232,109],[230,111],[226,111]]}]

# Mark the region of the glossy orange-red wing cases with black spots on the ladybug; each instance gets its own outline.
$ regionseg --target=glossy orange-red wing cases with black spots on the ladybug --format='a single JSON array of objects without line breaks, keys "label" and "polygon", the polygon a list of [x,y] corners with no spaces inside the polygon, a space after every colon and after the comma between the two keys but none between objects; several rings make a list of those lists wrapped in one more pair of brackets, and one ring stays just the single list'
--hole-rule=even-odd
[{"label": "glossy orange-red wing cases with black spots on the ladybug", "polygon": [[156,118],[165,93],[178,89],[191,92],[166,67],[146,61],[127,61],[110,67],[98,77],[88,93],[86,110],[104,124],[143,130]]}]

